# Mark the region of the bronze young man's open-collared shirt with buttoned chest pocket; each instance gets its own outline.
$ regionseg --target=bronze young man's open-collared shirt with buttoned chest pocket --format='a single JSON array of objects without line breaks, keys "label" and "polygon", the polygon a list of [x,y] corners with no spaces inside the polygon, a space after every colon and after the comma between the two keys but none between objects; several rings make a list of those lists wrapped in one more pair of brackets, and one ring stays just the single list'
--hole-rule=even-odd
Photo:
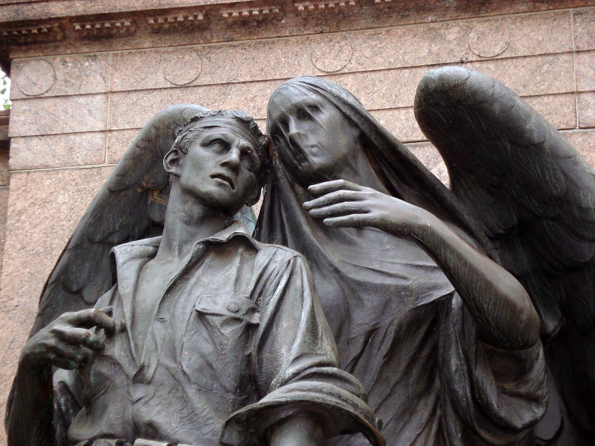
[{"label": "bronze young man's open-collared shirt with buttoned chest pocket", "polygon": [[68,444],[259,444],[273,423],[312,407],[329,434],[379,438],[361,385],[337,369],[307,263],[256,242],[240,222],[193,244],[136,351],[129,327],[142,299],[137,282],[159,242],[112,250],[116,283],[96,307],[113,307],[116,333],[86,367],[55,373]]}]

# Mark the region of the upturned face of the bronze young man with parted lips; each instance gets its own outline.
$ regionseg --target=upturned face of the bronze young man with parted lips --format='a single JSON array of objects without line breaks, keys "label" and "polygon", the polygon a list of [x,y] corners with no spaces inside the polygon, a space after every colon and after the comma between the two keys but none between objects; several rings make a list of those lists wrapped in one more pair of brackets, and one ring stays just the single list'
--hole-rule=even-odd
[{"label": "upturned face of the bronze young man with parted lips", "polygon": [[255,191],[260,161],[253,139],[230,121],[202,130],[179,162],[180,189],[215,211],[233,215]]}]

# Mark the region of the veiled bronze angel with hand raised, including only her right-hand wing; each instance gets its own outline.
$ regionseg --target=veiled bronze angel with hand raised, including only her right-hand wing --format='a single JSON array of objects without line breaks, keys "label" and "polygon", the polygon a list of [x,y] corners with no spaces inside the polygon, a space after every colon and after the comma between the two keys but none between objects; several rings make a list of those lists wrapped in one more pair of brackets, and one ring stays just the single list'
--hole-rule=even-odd
[{"label": "veiled bronze angel with hand raised, including only her right-hand wing", "polygon": [[431,71],[415,112],[452,191],[342,87],[282,84],[257,237],[314,265],[387,444],[592,444],[593,170],[477,71]]}]

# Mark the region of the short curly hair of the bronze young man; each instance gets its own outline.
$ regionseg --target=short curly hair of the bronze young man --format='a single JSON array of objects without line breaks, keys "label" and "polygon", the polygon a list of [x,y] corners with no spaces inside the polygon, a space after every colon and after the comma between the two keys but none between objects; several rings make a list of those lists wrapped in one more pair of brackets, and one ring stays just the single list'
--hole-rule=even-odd
[{"label": "short curly hair of the bronze young man", "polygon": [[192,145],[196,136],[205,130],[205,128],[201,128],[197,124],[204,118],[211,117],[224,117],[234,120],[240,125],[244,125],[246,130],[252,135],[256,142],[256,155],[258,155],[260,161],[258,172],[255,172],[256,184],[259,187],[264,186],[271,163],[268,137],[258,128],[258,124],[256,124],[254,118],[242,110],[205,110],[193,115],[177,131],[176,140],[172,148],[177,148],[183,153],[188,153],[190,145]]}]

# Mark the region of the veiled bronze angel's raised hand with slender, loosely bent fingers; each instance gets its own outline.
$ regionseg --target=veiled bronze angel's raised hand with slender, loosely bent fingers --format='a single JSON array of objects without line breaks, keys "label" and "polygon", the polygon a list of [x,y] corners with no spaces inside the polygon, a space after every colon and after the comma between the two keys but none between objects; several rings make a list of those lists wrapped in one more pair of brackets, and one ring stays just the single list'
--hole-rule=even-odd
[{"label": "veiled bronze angel's raised hand with slender, loosely bent fingers", "polygon": [[373,227],[414,235],[419,225],[435,218],[411,203],[346,180],[313,184],[308,191],[320,197],[303,203],[303,208],[330,227]]}]

